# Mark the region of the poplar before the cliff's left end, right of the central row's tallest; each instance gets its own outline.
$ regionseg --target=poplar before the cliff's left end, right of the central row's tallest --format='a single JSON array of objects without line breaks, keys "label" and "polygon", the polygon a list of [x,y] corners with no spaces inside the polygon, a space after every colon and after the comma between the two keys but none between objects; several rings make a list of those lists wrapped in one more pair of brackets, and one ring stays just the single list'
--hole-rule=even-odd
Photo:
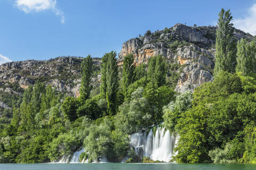
[{"label": "poplar before the cliff's left end, right of the central row's tallest", "polygon": [[128,86],[135,80],[135,65],[133,63],[134,58],[132,54],[124,57],[123,61],[123,86],[124,95],[126,95]]}]

